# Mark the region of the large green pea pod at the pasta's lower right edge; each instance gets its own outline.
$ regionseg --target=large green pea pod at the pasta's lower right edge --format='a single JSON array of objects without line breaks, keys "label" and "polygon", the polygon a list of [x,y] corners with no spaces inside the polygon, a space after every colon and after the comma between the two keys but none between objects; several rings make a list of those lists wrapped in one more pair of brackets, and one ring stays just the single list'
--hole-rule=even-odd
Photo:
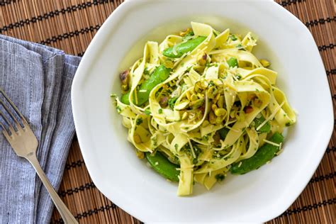
[{"label": "large green pea pod at the pasta's lower right edge", "polygon": [[[282,136],[280,133],[274,133],[269,141],[280,144],[281,142],[284,142],[284,136]],[[250,172],[254,169],[258,169],[262,165],[269,162],[278,151],[278,146],[266,143],[260,147],[252,157],[234,163],[230,168],[230,172],[231,174],[246,174],[247,172]]]}]

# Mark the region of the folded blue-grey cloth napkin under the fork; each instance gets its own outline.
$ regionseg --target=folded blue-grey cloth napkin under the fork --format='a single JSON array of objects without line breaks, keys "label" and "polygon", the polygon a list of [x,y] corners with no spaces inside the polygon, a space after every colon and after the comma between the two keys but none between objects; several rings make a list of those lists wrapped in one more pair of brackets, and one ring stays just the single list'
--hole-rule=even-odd
[{"label": "folded blue-grey cloth napkin under the fork", "polygon": [[[70,89],[80,57],[0,35],[0,86],[38,138],[38,160],[57,190],[74,136]],[[1,109],[1,108],[0,108]],[[0,223],[48,223],[53,203],[30,163],[0,135]]]}]

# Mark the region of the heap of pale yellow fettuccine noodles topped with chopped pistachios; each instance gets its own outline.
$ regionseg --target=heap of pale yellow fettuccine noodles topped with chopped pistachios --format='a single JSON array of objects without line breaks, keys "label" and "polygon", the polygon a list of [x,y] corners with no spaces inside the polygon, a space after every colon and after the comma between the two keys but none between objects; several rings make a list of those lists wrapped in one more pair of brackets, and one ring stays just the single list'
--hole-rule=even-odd
[{"label": "heap of pale yellow fettuccine noodles topped with chopped pistachios", "polygon": [[[284,92],[276,87],[277,73],[252,54],[257,45],[252,33],[240,38],[203,23],[191,27],[188,35],[148,41],[143,57],[123,73],[128,103],[116,97],[137,155],[159,151],[179,165],[179,196],[192,194],[194,181],[211,189],[231,164],[253,157],[269,136],[296,123]],[[194,49],[174,57],[179,44],[198,37],[203,39]],[[169,47],[173,57],[164,55]],[[169,77],[141,89],[159,66],[169,69]]]}]

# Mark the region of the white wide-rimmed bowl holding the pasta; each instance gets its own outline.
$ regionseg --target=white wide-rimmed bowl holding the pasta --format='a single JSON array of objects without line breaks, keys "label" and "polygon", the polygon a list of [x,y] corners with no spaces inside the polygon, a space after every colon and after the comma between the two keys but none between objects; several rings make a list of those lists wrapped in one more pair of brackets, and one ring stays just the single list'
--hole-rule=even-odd
[{"label": "white wide-rimmed bowl holding the pasta", "polygon": [[[118,73],[142,57],[146,40],[208,23],[259,36],[256,54],[279,72],[278,84],[298,111],[284,152],[271,164],[229,176],[211,191],[195,185],[178,197],[167,182],[135,156],[121,116],[112,106]],[[79,145],[97,188],[144,222],[264,222],[283,213],[318,167],[333,128],[325,68],[308,29],[273,1],[126,1],[95,35],[74,77],[72,106]]]}]

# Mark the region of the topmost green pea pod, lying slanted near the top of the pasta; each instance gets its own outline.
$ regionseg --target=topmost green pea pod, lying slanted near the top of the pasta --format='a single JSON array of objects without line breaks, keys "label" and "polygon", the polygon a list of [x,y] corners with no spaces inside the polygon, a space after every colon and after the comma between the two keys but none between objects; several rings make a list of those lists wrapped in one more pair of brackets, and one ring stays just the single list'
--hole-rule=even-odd
[{"label": "topmost green pea pod, lying slanted near the top of the pasta", "polygon": [[186,52],[194,50],[198,45],[200,45],[206,37],[198,37],[188,40],[184,43],[178,43],[174,47],[169,47],[163,51],[163,55],[166,57],[178,58],[182,57]]}]

